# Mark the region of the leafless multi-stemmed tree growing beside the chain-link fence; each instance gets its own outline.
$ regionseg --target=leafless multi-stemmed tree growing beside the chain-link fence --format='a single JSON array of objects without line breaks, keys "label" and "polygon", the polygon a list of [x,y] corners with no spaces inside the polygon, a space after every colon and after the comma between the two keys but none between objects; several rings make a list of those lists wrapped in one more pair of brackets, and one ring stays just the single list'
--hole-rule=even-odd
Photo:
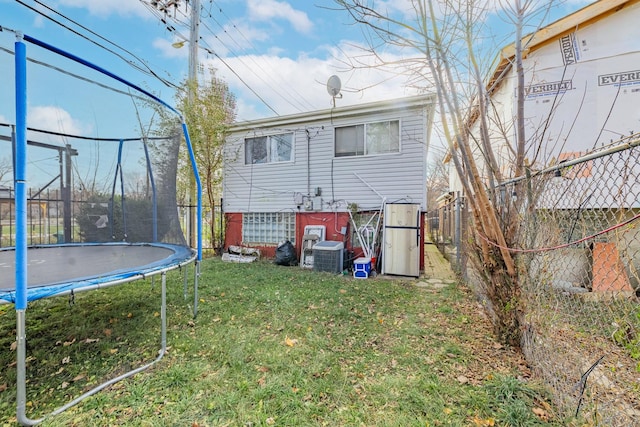
[{"label": "leafless multi-stemmed tree growing beside the chain-link fence", "polygon": [[[435,91],[439,109],[439,124],[448,144],[450,160],[464,189],[467,206],[472,214],[473,250],[470,255],[476,271],[482,276],[491,302],[494,325],[499,338],[509,344],[520,344],[520,286],[516,263],[509,251],[516,235],[520,205],[505,207],[518,200],[496,200],[492,188],[504,180],[505,169],[510,177],[525,173],[525,138],[523,124],[524,71],[520,44],[523,27],[532,15],[540,16],[537,0],[517,0],[504,9],[507,21],[514,27],[518,42],[514,64],[517,75],[517,114],[514,123],[498,128],[515,130],[496,135],[490,131],[492,116],[491,86],[485,76],[489,63],[479,58],[487,52],[481,39],[491,2],[456,0],[407,0],[396,3],[403,10],[391,13],[378,9],[367,0],[335,0],[362,24],[370,45],[368,52],[378,60],[380,68],[404,73],[414,85],[422,83],[425,91]],[[542,3],[540,3],[542,4]],[[549,2],[544,2],[547,5]],[[534,13],[535,12],[535,13]],[[398,17],[398,13],[403,16]],[[493,44],[489,44],[493,47]],[[388,62],[381,53],[383,47],[395,47],[403,60]],[[353,60],[354,67],[364,66]],[[495,126],[494,126],[495,128]],[[499,137],[501,140],[496,141]],[[515,155],[509,167],[496,156],[495,147],[510,147]],[[506,216],[506,218],[505,218]],[[504,226],[507,224],[507,226]]]}]

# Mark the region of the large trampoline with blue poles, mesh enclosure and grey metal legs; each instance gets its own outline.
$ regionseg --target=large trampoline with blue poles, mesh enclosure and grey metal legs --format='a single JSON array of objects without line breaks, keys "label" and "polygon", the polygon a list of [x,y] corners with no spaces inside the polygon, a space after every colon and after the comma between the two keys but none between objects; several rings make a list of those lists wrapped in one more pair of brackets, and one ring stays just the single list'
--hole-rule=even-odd
[{"label": "large trampoline with blue poles, mesh enclosure and grey metal legs", "polygon": [[[10,204],[13,216],[9,220],[11,244],[0,247],[0,304],[14,304],[16,310],[17,420],[21,425],[35,425],[45,418],[69,409],[100,390],[153,366],[164,356],[167,348],[166,273],[191,263],[195,266],[195,317],[198,305],[199,263],[202,260],[202,186],[189,132],[178,110],[139,86],[80,57],[19,31],[6,27],[2,30],[15,34],[16,42],[15,124],[5,125],[12,129],[10,137],[0,135],[0,144],[7,141],[11,141],[12,144],[14,178],[13,197],[2,199],[3,203],[8,201]],[[143,129],[150,132],[152,126],[142,125],[142,116],[139,115],[136,105],[135,111],[129,115],[138,121],[136,124],[143,133],[141,136],[97,138],[27,128],[27,62],[30,59],[26,55],[25,42],[44,49],[47,55],[55,54],[61,61],[69,62],[76,69],[79,65],[81,69],[93,73],[92,76],[97,76],[78,76],[55,67],[52,69],[60,72],[56,75],[57,78],[73,80],[72,83],[79,82],[79,85],[95,84],[101,89],[107,88],[118,96],[128,96],[128,102],[134,98],[142,99],[144,102],[153,103],[159,110],[168,111],[175,120],[169,122],[169,128],[165,126],[157,129],[154,136],[150,137],[149,134],[144,134]],[[38,61],[32,62],[41,64]],[[97,82],[93,79],[103,80]],[[32,83],[37,86],[41,81],[42,77]],[[47,80],[46,83],[42,96],[55,92],[53,88],[69,87],[69,81]],[[124,89],[114,89],[109,87],[109,84],[124,86]],[[92,90],[92,86],[76,89],[73,96],[79,98]],[[107,95],[110,93],[107,92]],[[55,97],[55,94],[52,96]],[[95,108],[107,108],[110,104],[106,101],[106,96],[104,99],[84,99],[88,102],[97,99]],[[126,103],[124,105],[126,106]],[[124,110],[124,107],[110,108],[107,113],[124,114]],[[153,111],[155,112],[151,116],[155,117],[158,110]],[[81,113],[80,111],[79,114]],[[36,135],[55,135],[59,138],[58,143],[28,140],[27,131],[30,138],[35,138]],[[178,211],[176,194],[181,146],[186,149],[187,155],[180,168],[189,170],[191,176],[188,176],[188,179],[195,184],[191,194],[197,196],[196,200],[192,200],[192,203],[195,203],[196,224],[190,224],[193,227],[190,230],[195,229],[195,241],[191,244],[187,243],[182,230],[184,220]],[[50,154],[40,155],[37,151],[51,152],[51,149],[58,153],[56,159],[59,160],[59,174],[53,178],[45,175],[44,178],[39,177],[39,181],[31,182],[29,178],[32,175],[29,175],[27,167],[30,161],[43,162],[51,158]],[[40,157],[30,160],[30,156],[34,154]],[[75,156],[78,157],[78,161],[74,164],[72,157]],[[36,174],[56,171],[57,167],[56,164],[44,168],[40,163],[36,168],[39,172],[36,171]],[[81,181],[78,185],[74,185],[74,173]],[[58,181],[59,199],[36,198]],[[35,193],[32,192],[34,187],[37,190]],[[57,215],[60,212],[61,215],[51,218],[52,214]],[[6,237],[3,235],[4,226],[0,221],[0,246],[3,245],[2,239]],[[34,230],[39,233],[35,237]],[[53,243],[51,236],[56,236]],[[105,381],[42,418],[27,417],[26,319],[29,303],[42,298],[89,291],[154,275],[160,275],[162,279],[159,310],[160,349],[157,358]],[[185,298],[187,280],[185,268]]]}]

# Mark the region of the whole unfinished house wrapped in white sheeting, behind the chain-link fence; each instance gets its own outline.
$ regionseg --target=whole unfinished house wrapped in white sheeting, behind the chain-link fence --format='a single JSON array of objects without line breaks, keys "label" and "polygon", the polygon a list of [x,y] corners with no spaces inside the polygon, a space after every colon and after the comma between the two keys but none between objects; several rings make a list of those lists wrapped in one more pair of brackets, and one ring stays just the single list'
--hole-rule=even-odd
[{"label": "whole unfinished house wrapped in white sheeting, behind the chain-link fence", "polygon": [[[640,164],[634,150],[624,147],[637,144],[640,135],[639,21],[639,0],[601,0],[522,39],[525,163],[533,176],[528,200],[535,203],[538,221],[530,242],[535,237],[537,247],[555,247],[581,237],[586,241],[570,254],[535,257],[539,271],[557,271],[556,285],[640,286],[635,231],[586,239],[640,208]],[[515,45],[502,49],[486,85],[488,135],[507,182],[517,178],[515,146],[508,145],[516,139],[514,57]],[[479,132],[477,116],[471,114],[468,124],[472,134]],[[620,147],[625,151],[614,152]],[[477,159],[483,169],[482,156]],[[455,169],[450,171],[450,190],[462,193]],[[500,197],[520,196],[510,188],[503,187]],[[614,271],[621,284],[612,286],[613,280],[600,278],[599,270]]]}]

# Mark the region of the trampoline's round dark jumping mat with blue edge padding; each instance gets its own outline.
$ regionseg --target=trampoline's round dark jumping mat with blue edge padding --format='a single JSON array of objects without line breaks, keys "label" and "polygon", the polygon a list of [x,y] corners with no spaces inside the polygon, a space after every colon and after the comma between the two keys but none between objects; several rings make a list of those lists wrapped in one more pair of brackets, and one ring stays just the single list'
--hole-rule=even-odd
[{"label": "trampoline's round dark jumping mat with blue edge padding", "polygon": [[[15,302],[15,248],[0,250],[0,304]],[[27,250],[27,300],[101,286],[177,268],[194,260],[185,246],[104,243],[34,246]]]}]

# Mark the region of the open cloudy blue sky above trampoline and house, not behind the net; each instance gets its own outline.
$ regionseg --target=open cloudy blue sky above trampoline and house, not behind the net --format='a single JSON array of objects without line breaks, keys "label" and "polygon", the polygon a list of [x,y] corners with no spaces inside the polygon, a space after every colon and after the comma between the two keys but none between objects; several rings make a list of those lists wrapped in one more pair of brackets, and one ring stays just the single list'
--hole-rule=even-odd
[{"label": "open cloudy blue sky above trampoline and house, not behind the net", "polygon": [[[185,0],[177,3],[179,7],[170,7],[165,15],[147,0],[0,0],[0,26],[79,55],[172,102],[172,87],[45,16],[97,40],[130,62],[144,61],[161,78],[179,84],[188,75],[189,47],[175,48],[172,43],[189,38],[183,24],[189,22],[190,10]],[[559,2],[554,14],[559,17],[586,3]],[[407,7],[406,0],[377,4],[399,12]],[[334,74],[343,85],[343,97],[337,105],[416,93],[403,77],[390,78],[376,70],[348,70],[347,58],[362,58],[357,46],[366,41],[362,28],[330,0],[201,0],[199,35],[198,69],[214,69],[229,84],[237,98],[240,121],[330,108],[326,82]],[[11,49],[13,41],[12,34],[0,33],[0,47]],[[383,54],[394,54],[385,50]],[[46,57],[33,53],[40,54]],[[10,61],[10,56],[0,55],[0,64]],[[6,117],[2,104],[0,117]],[[46,114],[46,110],[40,113]],[[65,120],[72,121],[73,116]]]}]

